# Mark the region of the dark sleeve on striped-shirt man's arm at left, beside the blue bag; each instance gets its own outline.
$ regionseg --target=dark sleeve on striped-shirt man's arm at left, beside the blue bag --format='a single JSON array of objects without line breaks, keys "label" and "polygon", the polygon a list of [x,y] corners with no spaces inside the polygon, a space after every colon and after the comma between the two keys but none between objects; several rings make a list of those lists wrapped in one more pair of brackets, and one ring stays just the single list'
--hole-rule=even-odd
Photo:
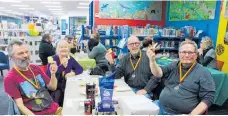
[{"label": "dark sleeve on striped-shirt man's arm at left, beside the blue bag", "polygon": [[111,71],[114,72],[116,71],[116,79],[120,79],[121,77],[124,76],[124,69],[125,69],[125,62],[124,62],[125,57],[120,59],[120,63],[115,67],[114,64],[110,65]]}]

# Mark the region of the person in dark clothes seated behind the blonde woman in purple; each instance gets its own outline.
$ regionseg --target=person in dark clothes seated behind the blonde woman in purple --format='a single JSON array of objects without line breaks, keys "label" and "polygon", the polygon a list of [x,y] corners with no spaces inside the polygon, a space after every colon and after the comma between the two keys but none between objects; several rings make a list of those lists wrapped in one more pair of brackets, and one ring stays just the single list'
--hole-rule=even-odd
[{"label": "person in dark clothes seated behind the blonde woman in purple", "polygon": [[39,57],[42,61],[42,65],[47,65],[47,58],[49,56],[55,55],[55,49],[52,46],[52,36],[50,34],[44,34],[42,36],[40,46],[39,46]]}]

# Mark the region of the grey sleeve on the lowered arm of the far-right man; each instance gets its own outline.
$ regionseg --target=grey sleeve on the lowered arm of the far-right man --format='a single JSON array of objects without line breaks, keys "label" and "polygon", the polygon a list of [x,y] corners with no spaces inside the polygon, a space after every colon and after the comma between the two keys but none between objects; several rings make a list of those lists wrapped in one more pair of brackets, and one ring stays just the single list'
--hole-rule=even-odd
[{"label": "grey sleeve on the lowered arm of the far-right man", "polygon": [[215,83],[210,72],[205,72],[200,78],[199,98],[202,102],[206,103],[208,107],[214,101],[215,96]]}]

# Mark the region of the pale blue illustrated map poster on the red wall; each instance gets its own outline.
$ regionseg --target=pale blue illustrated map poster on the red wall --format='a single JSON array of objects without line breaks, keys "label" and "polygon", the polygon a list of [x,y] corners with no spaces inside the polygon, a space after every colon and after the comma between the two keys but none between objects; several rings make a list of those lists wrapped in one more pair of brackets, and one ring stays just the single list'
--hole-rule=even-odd
[{"label": "pale blue illustrated map poster on the red wall", "polygon": [[161,1],[99,1],[99,18],[161,20]]}]

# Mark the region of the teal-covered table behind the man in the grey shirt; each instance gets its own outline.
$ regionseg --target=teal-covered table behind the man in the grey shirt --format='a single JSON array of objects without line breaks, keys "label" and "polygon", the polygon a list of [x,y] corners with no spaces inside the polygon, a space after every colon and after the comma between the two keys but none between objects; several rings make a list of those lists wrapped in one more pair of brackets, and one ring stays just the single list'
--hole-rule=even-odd
[{"label": "teal-covered table behind the man in the grey shirt", "polygon": [[[161,66],[165,66],[173,62],[172,59],[169,58],[156,59],[156,61]],[[222,104],[228,98],[228,76],[226,73],[221,72],[219,70],[215,70],[208,67],[205,68],[208,69],[208,71],[212,74],[212,77],[215,82],[216,93],[214,97],[214,104],[222,106]]]}]

